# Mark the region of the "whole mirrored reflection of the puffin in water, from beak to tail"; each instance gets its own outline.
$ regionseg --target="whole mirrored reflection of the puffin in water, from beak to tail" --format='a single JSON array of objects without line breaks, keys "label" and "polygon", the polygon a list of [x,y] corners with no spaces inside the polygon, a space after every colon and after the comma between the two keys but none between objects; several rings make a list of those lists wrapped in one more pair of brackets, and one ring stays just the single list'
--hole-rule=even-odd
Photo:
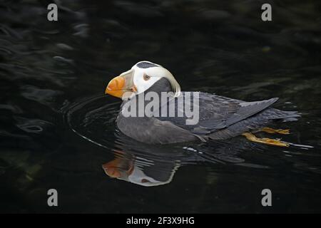
[{"label": "whole mirrored reflection of the puffin in water, from beak to tail", "polygon": [[[263,145],[253,145],[242,138],[217,140],[213,143],[189,142],[188,145],[158,146],[135,143],[131,138],[116,133],[114,158],[102,165],[109,177],[125,180],[144,187],[166,185],[174,179],[179,167],[199,162],[234,164],[258,168],[264,165],[245,161],[243,151],[261,150]],[[170,149],[170,150],[169,150]],[[190,181],[198,175],[190,175]]]}]

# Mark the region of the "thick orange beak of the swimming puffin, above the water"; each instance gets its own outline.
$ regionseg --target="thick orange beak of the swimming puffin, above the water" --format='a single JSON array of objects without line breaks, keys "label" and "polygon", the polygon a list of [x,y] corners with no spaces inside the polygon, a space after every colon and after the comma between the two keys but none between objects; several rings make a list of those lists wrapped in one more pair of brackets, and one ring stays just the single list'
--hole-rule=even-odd
[{"label": "thick orange beak of the swimming puffin, above the water", "polygon": [[111,79],[106,87],[105,94],[113,95],[116,98],[123,98],[126,92],[136,92],[137,88],[133,85],[133,71],[126,71],[120,76]]}]

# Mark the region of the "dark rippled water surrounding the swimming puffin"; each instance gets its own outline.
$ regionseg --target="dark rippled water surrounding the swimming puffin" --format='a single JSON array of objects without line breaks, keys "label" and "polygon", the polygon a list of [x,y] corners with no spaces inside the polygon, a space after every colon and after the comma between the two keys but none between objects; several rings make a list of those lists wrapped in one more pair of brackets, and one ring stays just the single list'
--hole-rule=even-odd
[{"label": "dark rippled water surrounding the swimming puffin", "polygon": [[[61,2],[57,22],[51,1],[0,3],[0,212],[321,212],[320,1]],[[272,22],[260,20],[266,2]],[[141,60],[183,90],[279,97],[276,108],[302,113],[275,126],[290,128],[282,140],[311,147],[125,138],[121,102],[103,92]],[[113,161],[118,179],[102,167]]]}]

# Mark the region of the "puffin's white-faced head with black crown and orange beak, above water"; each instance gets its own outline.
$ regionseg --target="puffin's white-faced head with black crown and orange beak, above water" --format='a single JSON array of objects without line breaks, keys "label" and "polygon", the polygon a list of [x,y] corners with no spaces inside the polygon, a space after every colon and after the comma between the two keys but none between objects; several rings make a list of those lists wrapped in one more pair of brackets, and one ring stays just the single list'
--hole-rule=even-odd
[{"label": "puffin's white-faced head with black crown and orange beak, above water", "polygon": [[[105,94],[126,100],[143,93],[162,78],[170,83],[175,96],[180,95],[180,85],[174,76],[163,66],[148,61],[136,63],[131,70],[113,78],[106,87]],[[167,91],[165,91],[167,92]]]}]

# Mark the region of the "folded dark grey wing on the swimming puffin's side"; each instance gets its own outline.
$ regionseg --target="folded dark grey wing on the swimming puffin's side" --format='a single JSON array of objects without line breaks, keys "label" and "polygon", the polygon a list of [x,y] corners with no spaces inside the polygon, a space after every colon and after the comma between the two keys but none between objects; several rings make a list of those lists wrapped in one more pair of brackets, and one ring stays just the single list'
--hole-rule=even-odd
[{"label": "folded dark grey wing on the swimming puffin's side", "polygon": [[[185,93],[183,95],[185,96]],[[192,102],[190,104],[184,103],[187,108],[192,108],[193,110],[198,108],[199,121],[195,125],[186,125],[185,120],[188,119],[186,117],[161,117],[158,119],[170,121],[180,126],[180,128],[190,130],[195,134],[208,134],[255,115],[275,103],[276,100],[277,98],[271,98],[270,100],[245,102],[200,92],[198,105],[193,103],[193,99],[191,99]],[[175,108],[178,108],[178,106],[176,105]]]}]

